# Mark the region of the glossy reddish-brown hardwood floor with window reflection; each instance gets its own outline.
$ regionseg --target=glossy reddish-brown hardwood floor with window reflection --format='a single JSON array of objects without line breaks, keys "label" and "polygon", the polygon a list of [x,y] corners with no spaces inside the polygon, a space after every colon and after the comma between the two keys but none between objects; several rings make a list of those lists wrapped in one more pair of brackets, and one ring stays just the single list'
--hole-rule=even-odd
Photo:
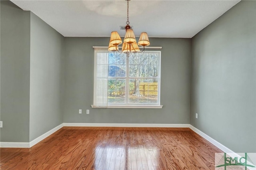
[{"label": "glossy reddish-brown hardwood floor with window reflection", "polygon": [[0,169],[214,170],[215,152],[189,128],[63,127],[31,148],[0,148]]}]

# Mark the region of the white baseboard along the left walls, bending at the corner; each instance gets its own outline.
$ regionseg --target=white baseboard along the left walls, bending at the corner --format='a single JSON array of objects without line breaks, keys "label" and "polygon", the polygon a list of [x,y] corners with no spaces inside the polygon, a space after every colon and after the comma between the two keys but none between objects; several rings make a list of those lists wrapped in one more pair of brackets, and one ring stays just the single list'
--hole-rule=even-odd
[{"label": "white baseboard along the left walls, bending at the corner", "polygon": [[63,123],[35,138],[31,142],[0,142],[1,148],[30,148],[63,127]]}]

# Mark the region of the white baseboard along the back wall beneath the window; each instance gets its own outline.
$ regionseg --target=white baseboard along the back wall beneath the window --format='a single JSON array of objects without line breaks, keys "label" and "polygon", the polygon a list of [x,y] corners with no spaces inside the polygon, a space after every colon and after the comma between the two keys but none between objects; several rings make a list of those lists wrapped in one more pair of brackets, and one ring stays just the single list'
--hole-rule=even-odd
[{"label": "white baseboard along the back wall beneath the window", "polygon": [[188,128],[190,124],[147,124],[147,123],[63,123],[64,127],[175,127]]}]

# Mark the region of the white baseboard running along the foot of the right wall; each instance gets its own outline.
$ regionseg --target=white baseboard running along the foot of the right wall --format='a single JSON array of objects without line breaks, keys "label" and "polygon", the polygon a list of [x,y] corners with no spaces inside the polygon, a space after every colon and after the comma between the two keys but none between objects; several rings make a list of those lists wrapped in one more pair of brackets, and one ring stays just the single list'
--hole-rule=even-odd
[{"label": "white baseboard running along the foot of the right wall", "polygon": [[223,152],[226,153],[234,153],[232,150],[230,150],[229,148],[227,148],[226,146],[224,146],[223,144],[221,144],[220,142],[218,142],[217,140],[211,138],[210,136],[208,136],[207,134],[205,134],[204,132],[202,132],[201,130],[199,130],[198,128],[193,127],[192,125],[189,126],[190,129],[192,129],[194,132],[196,132],[197,134],[199,134],[200,136],[202,136],[203,138],[205,138],[206,140],[208,140],[209,142],[211,142],[212,144],[214,144],[217,148],[219,148],[220,150],[222,150]]}]

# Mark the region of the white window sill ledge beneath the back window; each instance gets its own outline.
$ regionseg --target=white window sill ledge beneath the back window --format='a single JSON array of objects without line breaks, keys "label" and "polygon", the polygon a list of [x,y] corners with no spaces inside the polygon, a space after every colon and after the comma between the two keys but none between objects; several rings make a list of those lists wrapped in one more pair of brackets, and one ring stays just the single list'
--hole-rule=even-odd
[{"label": "white window sill ledge beneath the back window", "polygon": [[96,106],[91,105],[92,108],[136,108],[136,109],[161,109],[162,105],[108,105],[108,106]]}]

